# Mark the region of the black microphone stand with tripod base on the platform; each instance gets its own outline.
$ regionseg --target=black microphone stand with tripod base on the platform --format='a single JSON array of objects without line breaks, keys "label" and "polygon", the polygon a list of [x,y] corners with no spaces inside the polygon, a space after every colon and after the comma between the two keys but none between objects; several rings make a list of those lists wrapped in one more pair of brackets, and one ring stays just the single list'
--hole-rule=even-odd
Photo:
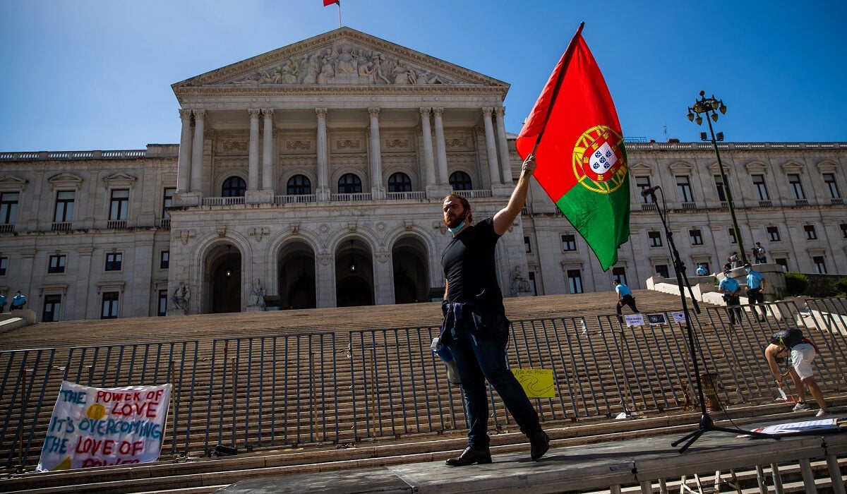
[{"label": "black microphone stand with tripod base on the platform", "polygon": [[[685,286],[688,286],[689,293],[691,295],[691,304],[694,306],[695,312],[700,314],[700,306],[697,305],[697,300],[694,297],[694,291],[691,289],[691,284],[689,283],[688,276],[685,275],[685,264],[683,264],[682,259],[679,257],[679,252],[677,250],[676,244],[673,243],[673,232],[667,226],[667,208],[659,208],[659,204],[656,203],[656,189],[661,190],[660,187],[651,187],[650,189],[645,189],[641,192],[644,197],[648,195],[653,199],[653,203],[656,204],[656,211],[659,213],[659,218],[662,219],[662,226],[665,228],[665,237],[667,238],[667,247],[670,249],[671,254],[673,255],[673,270],[677,275],[677,285],[679,286],[679,298],[683,304],[683,314],[685,315],[685,330],[689,340],[689,352],[691,353],[691,362],[694,365],[694,375],[697,383],[697,397],[700,398],[700,426],[694,432],[689,433],[686,436],[679,438],[677,441],[673,441],[671,446],[676,447],[679,443],[686,441],[684,446],[679,448],[679,452],[685,452],[694,441],[697,441],[700,436],[705,434],[710,430],[718,430],[721,432],[732,432],[734,434],[742,433],[748,434],[750,436],[756,437],[775,437],[779,439],[778,436],[772,436],[771,434],[766,434],[764,432],[754,432],[752,430],[740,430],[740,429],[730,429],[726,427],[718,427],[715,425],[715,420],[711,418],[709,415],[708,409],[706,408],[706,399],[703,397],[703,385],[700,382],[700,365],[697,364],[697,348],[695,346],[694,339],[694,330],[691,327],[691,318],[689,316],[689,308],[688,308],[688,300],[685,297]],[[662,194],[662,206],[665,205],[664,194]],[[664,209],[664,210],[663,210]]]}]

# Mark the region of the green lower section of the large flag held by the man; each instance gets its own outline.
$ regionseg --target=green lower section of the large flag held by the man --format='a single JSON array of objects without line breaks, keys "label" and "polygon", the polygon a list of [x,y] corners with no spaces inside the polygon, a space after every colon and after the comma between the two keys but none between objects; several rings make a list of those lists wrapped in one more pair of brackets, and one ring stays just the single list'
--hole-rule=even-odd
[{"label": "green lower section of the large flag held by the man", "polygon": [[577,184],[556,206],[588,242],[604,271],[617,263],[617,247],[629,238],[629,175],[608,194]]}]

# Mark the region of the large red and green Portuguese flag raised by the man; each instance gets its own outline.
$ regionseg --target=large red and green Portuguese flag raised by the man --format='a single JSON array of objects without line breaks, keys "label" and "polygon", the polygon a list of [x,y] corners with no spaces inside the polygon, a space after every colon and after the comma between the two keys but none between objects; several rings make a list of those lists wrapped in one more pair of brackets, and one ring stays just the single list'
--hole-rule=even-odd
[{"label": "large red and green Portuguese flag raised by the man", "polygon": [[629,175],[623,133],[583,24],[518,135],[535,154],[535,180],[579,231],[604,271],[629,238]]}]

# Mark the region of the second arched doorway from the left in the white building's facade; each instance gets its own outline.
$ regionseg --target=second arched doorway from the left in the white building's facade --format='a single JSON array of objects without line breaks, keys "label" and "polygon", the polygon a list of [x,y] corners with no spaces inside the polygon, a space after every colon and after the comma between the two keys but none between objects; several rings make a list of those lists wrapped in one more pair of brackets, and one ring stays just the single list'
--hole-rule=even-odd
[{"label": "second arched doorway from the left in the white building's facade", "polygon": [[[279,304],[280,309],[316,308],[317,286],[315,284],[315,257],[312,248],[302,241],[286,244],[280,250],[279,260]],[[270,307],[273,297],[265,303]]]}]

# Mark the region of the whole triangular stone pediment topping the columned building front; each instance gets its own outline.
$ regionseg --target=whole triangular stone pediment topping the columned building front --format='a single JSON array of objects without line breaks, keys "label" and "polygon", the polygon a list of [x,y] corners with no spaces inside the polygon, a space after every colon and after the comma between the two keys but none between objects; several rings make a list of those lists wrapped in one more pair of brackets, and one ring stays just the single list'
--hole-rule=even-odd
[{"label": "whole triangular stone pediment topping the columned building front", "polygon": [[177,97],[226,88],[263,92],[292,88],[345,89],[367,86],[480,86],[499,88],[501,80],[401,47],[348,27],[329,31],[272,52],[212,70],[172,87]]}]

